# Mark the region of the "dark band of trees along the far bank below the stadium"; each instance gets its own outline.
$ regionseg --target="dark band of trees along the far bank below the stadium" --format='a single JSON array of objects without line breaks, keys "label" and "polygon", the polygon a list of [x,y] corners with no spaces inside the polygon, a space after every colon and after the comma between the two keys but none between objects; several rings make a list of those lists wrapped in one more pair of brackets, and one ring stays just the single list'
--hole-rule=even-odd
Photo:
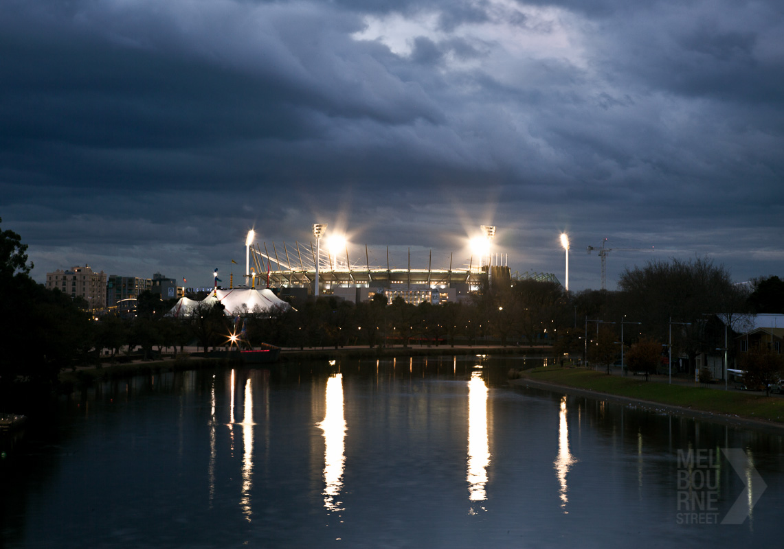
[{"label": "dark band of trees along the far bank below the stadium", "polygon": [[[469,300],[443,305],[415,306],[402,298],[387,303],[380,294],[354,304],[326,295],[288,310],[231,316],[223,305],[201,306],[185,320],[165,315],[173,301],[146,292],[135,317],[96,317],[83,300],[35,283],[26,251],[18,234],[0,232],[0,308],[9,320],[0,353],[0,398],[20,394],[22,386],[53,388],[64,368],[118,359],[121,349],[153,358],[183,345],[221,348],[233,345],[230,336],[242,329],[242,345],[542,345],[555,358],[605,367],[622,344],[626,362],[641,371],[655,371],[664,345],[672,341],[673,356],[688,356],[693,367],[700,352],[724,346],[724,325],[713,315],[734,325],[754,312],[784,312],[784,283],[777,276],[750,286],[733,284],[723,265],[695,258],[627,268],[618,291],[566,292],[553,282],[490,280]],[[773,364],[768,377],[781,375],[780,356],[768,361]]]}]

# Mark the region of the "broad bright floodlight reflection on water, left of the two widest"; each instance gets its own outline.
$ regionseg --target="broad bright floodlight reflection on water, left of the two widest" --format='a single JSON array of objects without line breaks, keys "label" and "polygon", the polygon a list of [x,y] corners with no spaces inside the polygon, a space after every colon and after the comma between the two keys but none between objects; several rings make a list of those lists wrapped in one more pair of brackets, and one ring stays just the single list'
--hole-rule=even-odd
[{"label": "broad bright floodlight reflection on water, left of the two widest", "polygon": [[343,374],[332,374],[327,380],[326,412],[318,426],[324,432],[324,507],[343,511],[337,500],[343,487],[345,464],[346,420],[343,417]]}]

